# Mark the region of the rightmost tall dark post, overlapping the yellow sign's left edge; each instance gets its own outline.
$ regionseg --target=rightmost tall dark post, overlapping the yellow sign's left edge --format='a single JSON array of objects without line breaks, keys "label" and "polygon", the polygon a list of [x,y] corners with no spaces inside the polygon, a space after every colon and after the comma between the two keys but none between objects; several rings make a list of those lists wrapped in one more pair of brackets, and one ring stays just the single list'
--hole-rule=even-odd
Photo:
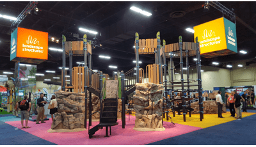
[{"label": "rightmost tall dark post, overlapping the yellow sign's left edge", "polygon": [[196,37],[196,70],[197,70],[197,81],[198,81],[198,98],[199,98],[199,114],[200,114],[200,121],[203,120],[203,102],[202,102],[202,79],[201,79],[201,65],[200,65],[200,51],[199,51],[199,42],[198,42],[198,37]]}]

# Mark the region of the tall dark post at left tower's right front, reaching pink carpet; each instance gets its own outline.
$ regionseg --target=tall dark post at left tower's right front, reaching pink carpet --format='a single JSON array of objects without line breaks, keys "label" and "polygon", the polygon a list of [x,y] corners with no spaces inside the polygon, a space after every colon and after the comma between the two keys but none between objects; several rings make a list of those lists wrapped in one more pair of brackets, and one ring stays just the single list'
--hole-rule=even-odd
[{"label": "tall dark post at left tower's right front, reaching pink carpet", "polygon": [[83,37],[84,46],[84,128],[87,128],[87,35]]}]

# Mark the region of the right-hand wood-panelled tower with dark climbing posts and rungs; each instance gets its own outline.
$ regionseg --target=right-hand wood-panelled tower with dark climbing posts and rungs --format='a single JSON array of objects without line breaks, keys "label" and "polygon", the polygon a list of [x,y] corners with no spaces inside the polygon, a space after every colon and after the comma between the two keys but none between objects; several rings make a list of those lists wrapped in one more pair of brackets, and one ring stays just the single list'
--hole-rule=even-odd
[{"label": "right-hand wood-panelled tower with dark climbing posts and rungs", "polygon": [[[198,98],[199,98],[199,107],[200,107],[200,120],[204,118],[203,115],[203,105],[202,105],[202,80],[201,80],[201,62],[200,62],[200,48],[199,43],[196,38],[196,43],[191,42],[182,42],[182,37],[179,37],[179,43],[172,43],[170,45],[166,45],[165,40],[163,40],[163,47],[160,45],[160,33],[157,33],[156,39],[146,39],[146,40],[140,40],[138,33],[135,35],[135,52],[136,52],[136,75],[140,75],[138,72],[139,66],[139,54],[155,54],[155,64],[148,65],[146,67],[146,80],[147,82],[153,82],[155,84],[164,84],[164,105],[163,105],[163,118],[165,118],[166,114],[166,120],[170,118],[168,115],[169,109],[172,109],[173,117],[175,117],[175,111],[177,112],[183,112],[184,121],[186,121],[186,114],[189,112],[189,116],[191,117],[191,109],[190,107],[190,100],[193,100],[193,98],[190,97],[190,92],[193,91],[190,89],[192,86],[198,87]],[[177,56],[174,56],[174,55]],[[189,85],[189,56],[195,56],[196,55],[196,69],[198,73],[198,84],[195,85]],[[171,74],[169,75],[170,79],[170,85],[171,88],[167,89],[167,77],[166,77],[166,58],[170,58],[170,64],[171,64]],[[180,82],[174,82],[173,81],[173,58],[180,58],[180,75],[181,79]],[[186,58],[186,71],[187,71],[187,81],[184,81],[183,79],[183,58]],[[162,64],[164,66],[164,69],[162,68]],[[163,75],[164,75],[164,83],[163,83]],[[137,82],[140,83],[140,78],[137,77]],[[186,83],[186,84],[185,84]],[[177,85],[179,84],[179,85]],[[187,87],[187,89],[184,89],[184,87]],[[181,89],[180,89],[181,88]],[[168,90],[170,91],[170,100],[168,99]],[[180,98],[175,99],[174,92],[180,93]],[[188,95],[185,97],[185,93],[188,93]],[[186,105],[186,102],[189,102],[188,105]],[[174,102],[180,102],[178,107],[175,107]]]}]

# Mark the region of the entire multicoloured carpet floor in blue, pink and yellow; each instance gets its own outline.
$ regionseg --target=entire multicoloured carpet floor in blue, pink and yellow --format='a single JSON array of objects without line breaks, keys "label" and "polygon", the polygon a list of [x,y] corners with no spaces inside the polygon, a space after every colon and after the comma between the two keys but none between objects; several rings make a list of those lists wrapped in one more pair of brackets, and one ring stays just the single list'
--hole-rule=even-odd
[{"label": "entire multicoloured carpet floor in blue, pink and yellow", "polygon": [[[230,113],[223,114],[223,119],[217,114],[204,114],[204,120],[200,121],[198,114],[193,114],[191,118],[186,115],[186,122],[182,120],[182,115],[175,115],[172,123],[164,119],[165,131],[160,132],[139,132],[133,130],[135,116],[132,114],[130,120],[126,118],[125,128],[122,128],[122,121],[118,120],[118,125],[111,127],[112,135],[104,137],[105,128],[88,137],[88,130],[72,133],[48,133],[51,128],[51,119],[36,125],[29,121],[29,127],[22,128],[20,118],[16,116],[0,117],[0,145],[143,145],[143,144],[255,144],[253,132],[256,132],[256,111],[243,112],[242,120],[230,117]],[[172,113],[170,113],[172,116]],[[169,120],[170,121],[170,120]],[[92,122],[92,127],[99,122]],[[3,127],[2,127],[3,126]],[[17,129],[18,128],[18,129]],[[91,127],[90,127],[91,128]],[[236,129],[235,129],[236,128]],[[240,134],[237,137],[237,134]],[[24,135],[28,139],[24,139]],[[236,140],[234,140],[236,139]]]}]

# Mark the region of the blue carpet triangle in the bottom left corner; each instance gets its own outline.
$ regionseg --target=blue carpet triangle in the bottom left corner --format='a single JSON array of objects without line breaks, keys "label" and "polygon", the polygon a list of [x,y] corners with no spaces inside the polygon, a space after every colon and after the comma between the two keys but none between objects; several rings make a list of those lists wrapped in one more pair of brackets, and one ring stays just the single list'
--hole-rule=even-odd
[{"label": "blue carpet triangle in the bottom left corner", "polygon": [[0,145],[57,145],[0,121]]}]

